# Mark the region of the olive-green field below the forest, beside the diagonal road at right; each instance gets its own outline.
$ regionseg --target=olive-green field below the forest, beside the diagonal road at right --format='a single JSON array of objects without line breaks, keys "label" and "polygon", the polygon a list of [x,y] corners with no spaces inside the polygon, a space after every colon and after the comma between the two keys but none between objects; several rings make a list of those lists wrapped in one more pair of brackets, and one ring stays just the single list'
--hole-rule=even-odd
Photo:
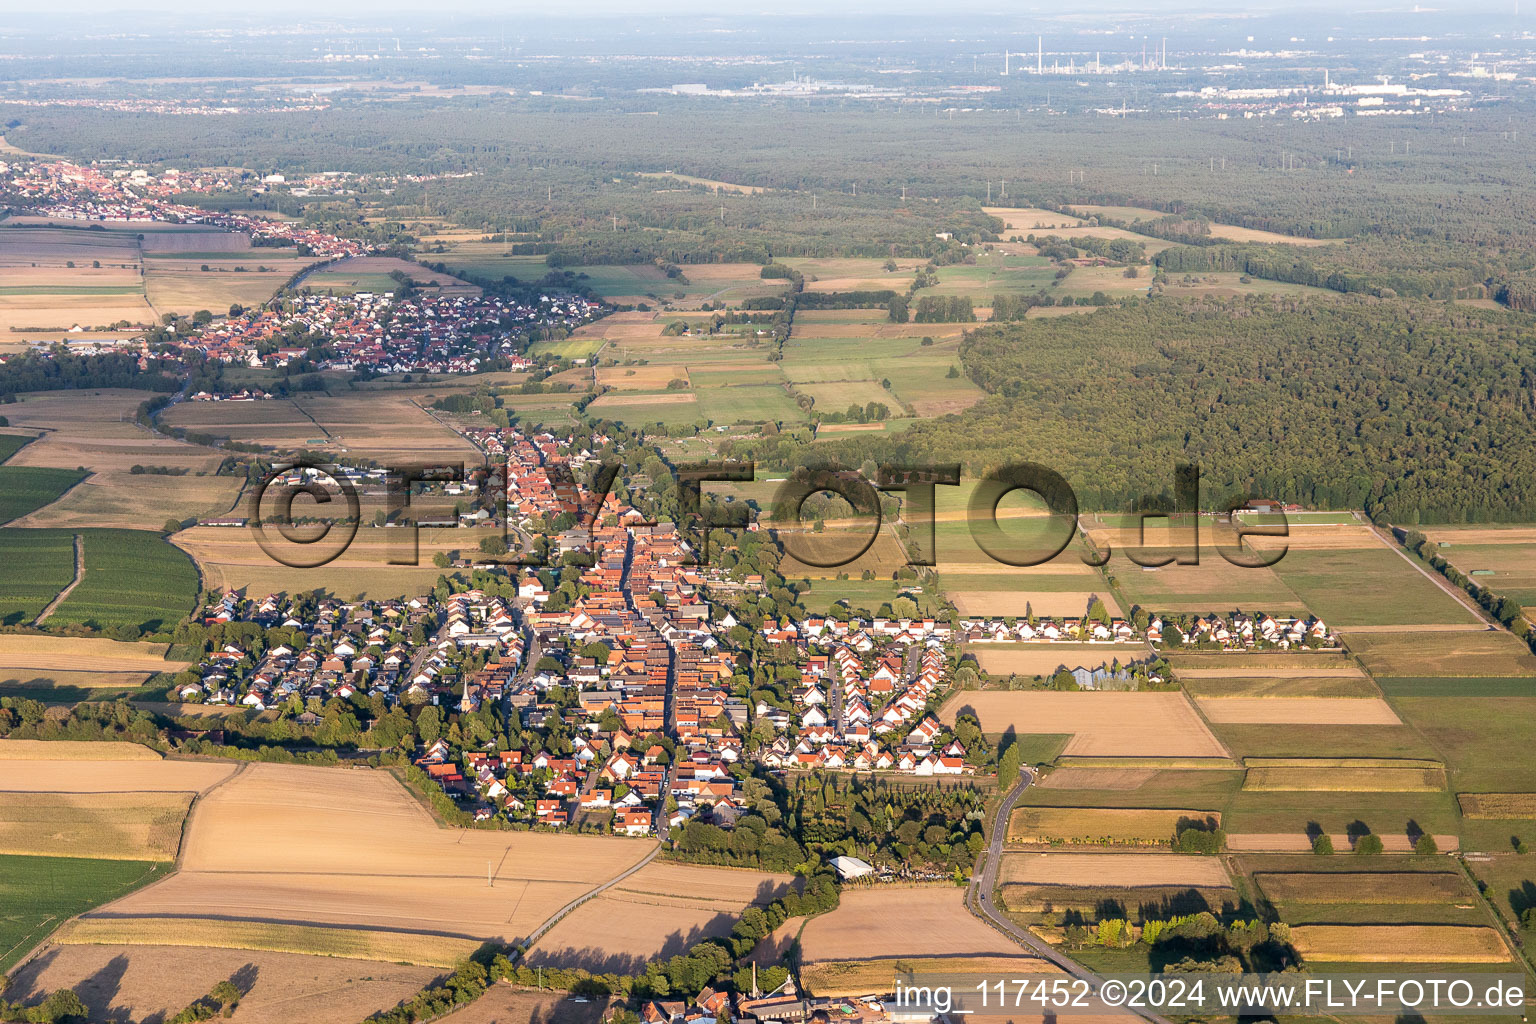
[{"label": "olive-green field below the forest, beside the diagonal road at right", "polygon": [[1292,548],[1275,571],[1330,626],[1476,622],[1473,614],[1387,548]]}]

